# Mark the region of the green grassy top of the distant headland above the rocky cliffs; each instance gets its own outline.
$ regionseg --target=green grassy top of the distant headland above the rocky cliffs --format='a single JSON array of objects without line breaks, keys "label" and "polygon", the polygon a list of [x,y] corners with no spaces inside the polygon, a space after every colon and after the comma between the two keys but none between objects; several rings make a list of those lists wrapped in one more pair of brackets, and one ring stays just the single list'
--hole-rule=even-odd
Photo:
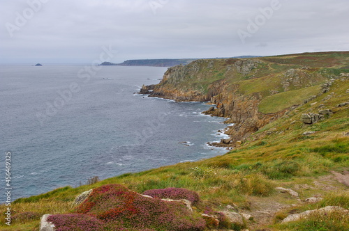
[{"label": "green grassy top of the distant headland above the rocky cliffs", "polygon": [[[237,59],[234,58],[195,61],[188,65],[181,78],[165,84],[184,92],[198,90],[207,93],[211,83],[224,79],[230,85],[239,85],[239,91],[245,95],[261,93],[264,99],[260,104],[260,112],[275,113],[300,104],[311,95],[318,95],[321,83],[340,73],[349,73],[349,51],[292,54],[251,60],[260,63],[248,74],[237,72]],[[285,93],[282,81],[290,69],[296,70],[300,82],[295,86],[291,80],[290,89]]]}]

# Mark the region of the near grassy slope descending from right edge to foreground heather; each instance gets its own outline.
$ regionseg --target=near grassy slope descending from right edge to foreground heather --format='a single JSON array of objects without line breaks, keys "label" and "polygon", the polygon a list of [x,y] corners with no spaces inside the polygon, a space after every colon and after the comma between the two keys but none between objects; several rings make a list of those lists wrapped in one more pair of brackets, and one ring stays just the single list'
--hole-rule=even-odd
[{"label": "near grassy slope descending from right edge to foreground heather", "polygon": [[[70,203],[78,194],[110,183],[124,184],[139,193],[170,186],[195,190],[203,199],[201,207],[210,205],[223,209],[234,203],[242,212],[255,216],[257,222],[248,221],[250,230],[266,225],[272,230],[294,230],[292,225],[279,224],[281,218],[294,209],[302,212],[326,205],[341,205],[349,209],[348,187],[336,182],[329,173],[330,170],[341,172],[349,168],[349,137],[343,136],[343,132],[349,132],[349,106],[336,106],[348,101],[348,88],[348,80],[336,80],[329,93],[265,126],[241,148],[223,156],[125,174],[94,185],[77,188],[68,186],[17,200],[12,205],[13,225],[9,228],[1,223],[0,230],[37,230],[41,215],[69,212]],[[323,101],[332,92],[334,96]],[[317,103],[311,106],[314,102]],[[317,112],[320,104],[324,104],[324,109],[332,109],[334,115],[314,125],[303,125],[299,121],[301,114]],[[302,133],[306,131],[316,133],[303,136]],[[277,193],[274,186],[294,189],[301,199],[320,195],[326,200],[306,205]],[[297,206],[291,207],[293,204]],[[274,218],[258,215],[260,210],[274,211],[280,209],[280,206],[283,210],[273,215]],[[5,207],[1,205],[0,209],[4,211]],[[338,217],[330,221],[336,219]],[[306,227],[302,222],[297,225]]]}]

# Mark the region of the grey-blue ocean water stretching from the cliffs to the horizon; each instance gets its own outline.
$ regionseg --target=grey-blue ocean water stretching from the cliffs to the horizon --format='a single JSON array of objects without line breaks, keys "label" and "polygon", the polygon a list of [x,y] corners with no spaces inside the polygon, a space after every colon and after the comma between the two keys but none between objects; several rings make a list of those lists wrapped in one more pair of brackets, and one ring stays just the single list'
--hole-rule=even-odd
[{"label": "grey-blue ocean water stretching from the cliffs to the horizon", "polygon": [[6,152],[13,200],[224,154],[206,144],[226,127],[208,105],[133,94],[166,69],[0,65],[1,187]]}]

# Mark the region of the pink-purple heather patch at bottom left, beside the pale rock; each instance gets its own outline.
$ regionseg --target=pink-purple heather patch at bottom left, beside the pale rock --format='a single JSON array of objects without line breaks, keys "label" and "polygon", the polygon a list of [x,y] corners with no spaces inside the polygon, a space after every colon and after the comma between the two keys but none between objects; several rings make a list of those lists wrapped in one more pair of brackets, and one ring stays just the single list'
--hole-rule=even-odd
[{"label": "pink-purple heather patch at bottom left, beside the pale rock", "polygon": [[101,231],[103,221],[85,214],[55,214],[47,218],[56,227],[56,231]]}]

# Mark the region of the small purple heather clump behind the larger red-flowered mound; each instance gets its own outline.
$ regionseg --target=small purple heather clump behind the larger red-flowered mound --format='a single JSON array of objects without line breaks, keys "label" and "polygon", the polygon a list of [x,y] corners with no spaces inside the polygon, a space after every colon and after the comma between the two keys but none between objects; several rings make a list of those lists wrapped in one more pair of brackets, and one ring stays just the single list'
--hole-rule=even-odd
[{"label": "small purple heather clump behind the larger red-flowered mound", "polygon": [[143,194],[153,198],[170,198],[172,200],[186,199],[193,204],[200,200],[197,192],[181,188],[150,189],[144,191]]}]

